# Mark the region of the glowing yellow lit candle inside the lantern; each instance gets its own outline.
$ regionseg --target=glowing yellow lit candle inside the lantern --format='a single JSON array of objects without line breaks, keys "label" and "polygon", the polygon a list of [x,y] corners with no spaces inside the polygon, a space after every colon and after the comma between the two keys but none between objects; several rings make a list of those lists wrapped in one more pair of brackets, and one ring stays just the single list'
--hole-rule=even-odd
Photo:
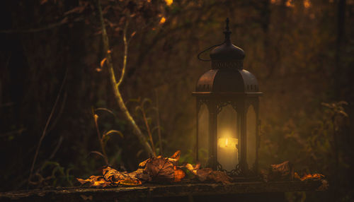
[{"label": "glowing yellow lit candle inside the lantern", "polygon": [[237,144],[239,140],[237,138],[219,138],[217,141],[217,160],[222,165],[222,169],[230,171],[234,170],[239,163]]}]

